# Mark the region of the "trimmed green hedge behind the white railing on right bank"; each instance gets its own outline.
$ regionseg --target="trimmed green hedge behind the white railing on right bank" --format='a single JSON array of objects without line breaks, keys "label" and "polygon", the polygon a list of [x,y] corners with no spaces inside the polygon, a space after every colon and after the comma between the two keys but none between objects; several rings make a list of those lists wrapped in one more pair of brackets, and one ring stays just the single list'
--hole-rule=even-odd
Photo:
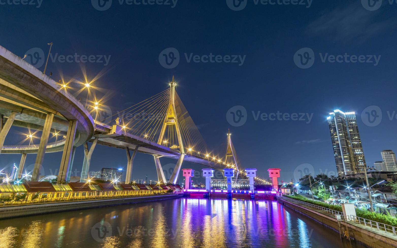
[{"label": "trimmed green hedge behind the white railing on right bank", "polygon": [[[332,204],[323,203],[320,201],[308,200],[307,198],[305,198],[301,195],[284,195],[284,196],[291,198],[291,199],[298,200],[298,201],[303,201],[305,203],[310,203],[313,205],[322,206],[324,208],[330,208],[332,210],[342,212],[342,206],[339,206],[339,205],[332,205]],[[370,212],[368,210],[361,210],[359,208],[356,208],[356,215],[358,217],[361,217],[364,219],[373,220],[373,221],[377,221],[380,223],[384,223],[386,225],[392,225],[392,226],[397,227],[397,218],[391,216],[390,214],[384,215],[384,214]]]}]

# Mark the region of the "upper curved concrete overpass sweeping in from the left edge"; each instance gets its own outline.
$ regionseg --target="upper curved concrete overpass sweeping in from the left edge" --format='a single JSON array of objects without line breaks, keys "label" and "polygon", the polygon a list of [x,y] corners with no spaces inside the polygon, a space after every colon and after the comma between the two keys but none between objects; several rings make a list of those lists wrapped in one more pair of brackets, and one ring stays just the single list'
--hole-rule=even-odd
[{"label": "upper curved concrete overpass sweeping in from the left edge", "polygon": [[[65,121],[77,120],[79,140],[75,146],[84,144],[93,136],[94,121],[83,104],[67,91],[61,90],[61,86],[56,81],[2,46],[0,46],[0,79],[6,82],[2,85],[2,89],[8,93],[6,98],[13,101],[11,104],[15,102],[14,105],[20,107],[27,106],[40,112],[52,113],[58,119]],[[10,92],[10,89],[13,92]]]}]

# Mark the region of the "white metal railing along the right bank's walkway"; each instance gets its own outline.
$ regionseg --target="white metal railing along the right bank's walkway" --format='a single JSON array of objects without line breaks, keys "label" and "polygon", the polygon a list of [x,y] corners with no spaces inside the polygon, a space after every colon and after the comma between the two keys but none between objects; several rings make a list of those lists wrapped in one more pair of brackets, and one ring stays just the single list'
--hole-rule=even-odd
[{"label": "white metal railing along the right bank's walkway", "polygon": [[[278,196],[278,197],[280,197],[280,198],[282,198],[284,200],[287,200],[287,201],[292,201],[292,202],[295,202],[295,203],[299,203],[299,204],[303,204],[303,205],[306,205],[306,206],[310,206],[312,208],[317,208],[317,209],[329,212],[330,214],[340,214],[343,217],[343,212],[339,212],[339,211],[336,211],[336,210],[333,210],[333,209],[330,209],[330,208],[324,208],[322,206],[317,206],[317,205],[314,205],[314,204],[311,204],[311,203],[305,203],[304,201],[295,200],[295,199],[292,199],[292,198],[289,198],[289,197],[285,197],[285,196]],[[354,216],[354,215],[347,216],[347,219],[348,219],[347,221],[354,221],[356,223],[358,222],[361,225],[370,226],[371,228],[376,228],[376,229],[378,229],[378,231],[385,231],[386,233],[387,232],[391,232],[391,233],[393,233],[394,236],[397,236],[396,235],[397,227],[394,227],[392,225],[387,225],[387,224],[384,224],[384,223],[380,223],[380,222],[377,222],[377,221],[374,221],[374,220],[368,220],[368,219],[361,218],[361,217]]]}]

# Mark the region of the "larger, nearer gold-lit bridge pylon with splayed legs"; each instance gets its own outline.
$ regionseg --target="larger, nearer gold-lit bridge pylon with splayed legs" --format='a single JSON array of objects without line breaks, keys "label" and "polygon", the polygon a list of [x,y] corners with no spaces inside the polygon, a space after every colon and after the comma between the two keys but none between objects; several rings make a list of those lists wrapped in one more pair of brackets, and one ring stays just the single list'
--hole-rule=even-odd
[{"label": "larger, nearer gold-lit bridge pylon with splayed legs", "polygon": [[[171,184],[176,184],[176,181],[178,179],[178,174],[179,171],[181,170],[181,166],[182,166],[182,162],[183,162],[183,158],[185,157],[185,147],[183,146],[183,141],[182,141],[182,135],[181,135],[181,129],[179,127],[179,122],[178,122],[178,116],[177,116],[177,112],[176,112],[176,107],[175,107],[175,86],[176,86],[176,82],[174,77],[172,76],[172,81],[170,82],[170,87],[171,87],[171,91],[170,91],[170,103],[168,105],[168,109],[166,112],[166,115],[164,116],[164,121],[162,124],[162,128],[161,128],[161,132],[160,132],[160,136],[158,137],[158,144],[162,144],[164,142],[163,138],[164,138],[164,134],[166,133],[166,129],[167,128],[171,128],[172,126],[175,127],[175,133],[178,139],[178,148],[179,151],[181,153],[181,156],[179,157],[175,168],[172,172],[171,178],[170,178],[170,183]],[[156,159],[156,158],[155,158]],[[159,172],[159,170],[162,171],[162,167],[160,164],[160,160],[158,160],[158,158],[156,159],[156,168],[157,171]],[[162,175],[157,175],[159,180],[164,178],[164,176]]]}]

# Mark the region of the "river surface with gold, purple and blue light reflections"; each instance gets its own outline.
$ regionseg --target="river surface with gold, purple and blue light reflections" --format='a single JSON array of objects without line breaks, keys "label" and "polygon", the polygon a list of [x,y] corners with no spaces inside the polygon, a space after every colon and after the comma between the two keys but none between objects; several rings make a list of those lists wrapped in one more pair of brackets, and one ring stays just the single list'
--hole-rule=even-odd
[{"label": "river surface with gold, purple and blue light reflections", "polygon": [[351,247],[276,201],[240,199],[181,198],[1,220],[0,240],[0,248]]}]

